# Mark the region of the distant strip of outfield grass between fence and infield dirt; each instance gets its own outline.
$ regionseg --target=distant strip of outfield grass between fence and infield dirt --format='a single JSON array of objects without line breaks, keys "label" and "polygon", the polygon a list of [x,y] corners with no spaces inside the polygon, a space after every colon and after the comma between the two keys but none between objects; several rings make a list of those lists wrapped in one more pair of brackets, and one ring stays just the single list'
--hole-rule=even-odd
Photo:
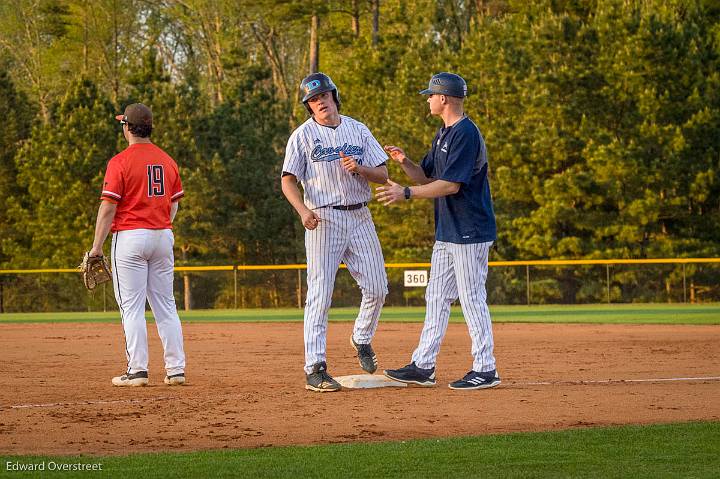
[{"label": "distant strip of outfield grass between fence and infield dirt", "polygon": [[[544,306],[491,306],[495,323],[632,323],[632,324],[720,324],[720,303],[707,304],[588,304]],[[333,308],[331,321],[354,321],[356,308]],[[274,322],[302,321],[301,309],[234,309],[180,311],[183,321]],[[424,307],[387,307],[382,321],[422,322]],[[151,315],[148,313],[148,318]],[[114,312],[5,313],[0,323],[117,322]],[[452,322],[462,322],[454,306]]]}]

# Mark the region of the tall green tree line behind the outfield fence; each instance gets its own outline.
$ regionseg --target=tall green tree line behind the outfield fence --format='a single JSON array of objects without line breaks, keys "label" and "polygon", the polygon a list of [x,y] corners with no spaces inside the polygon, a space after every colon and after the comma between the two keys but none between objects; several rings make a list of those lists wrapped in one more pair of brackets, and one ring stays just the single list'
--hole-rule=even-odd
[{"label": "tall green tree line behind the outfield fence", "polygon": [[[717,256],[719,53],[710,0],[0,2],[0,267],[80,258],[124,147],[113,115],[135,101],[184,180],[178,264],[303,262],[279,178],[307,118],[299,82],[318,69],[342,113],[416,161],[439,126],[418,91],[438,71],[467,80],[498,217],[491,259]],[[429,259],[430,202],[371,209],[387,261]],[[501,274],[495,294],[512,302],[522,275]],[[669,293],[678,274],[627,271],[613,294]],[[199,303],[222,302],[228,286],[203,281]],[[547,301],[604,295],[579,271],[541,284]]]}]

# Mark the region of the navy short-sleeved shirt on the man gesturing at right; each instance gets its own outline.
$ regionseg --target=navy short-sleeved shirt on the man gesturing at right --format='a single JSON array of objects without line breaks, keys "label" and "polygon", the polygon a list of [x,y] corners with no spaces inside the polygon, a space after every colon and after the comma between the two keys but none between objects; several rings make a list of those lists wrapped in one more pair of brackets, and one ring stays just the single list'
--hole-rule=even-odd
[{"label": "navy short-sleeved shirt on the man gesturing at right", "polygon": [[436,240],[460,244],[495,241],[485,141],[470,118],[440,128],[420,167],[428,178],[460,183],[454,195],[435,198]]}]

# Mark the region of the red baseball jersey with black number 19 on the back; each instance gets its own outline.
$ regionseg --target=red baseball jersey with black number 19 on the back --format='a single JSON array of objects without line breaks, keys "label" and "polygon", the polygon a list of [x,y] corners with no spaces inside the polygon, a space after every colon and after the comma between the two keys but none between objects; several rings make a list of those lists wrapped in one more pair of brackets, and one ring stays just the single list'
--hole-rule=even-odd
[{"label": "red baseball jersey with black number 19 on the back", "polygon": [[183,197],[177,163],[153,143],[135,143],[107,166],[100,198],[117,203],[112,231],[168,229],[170,206]]}]

